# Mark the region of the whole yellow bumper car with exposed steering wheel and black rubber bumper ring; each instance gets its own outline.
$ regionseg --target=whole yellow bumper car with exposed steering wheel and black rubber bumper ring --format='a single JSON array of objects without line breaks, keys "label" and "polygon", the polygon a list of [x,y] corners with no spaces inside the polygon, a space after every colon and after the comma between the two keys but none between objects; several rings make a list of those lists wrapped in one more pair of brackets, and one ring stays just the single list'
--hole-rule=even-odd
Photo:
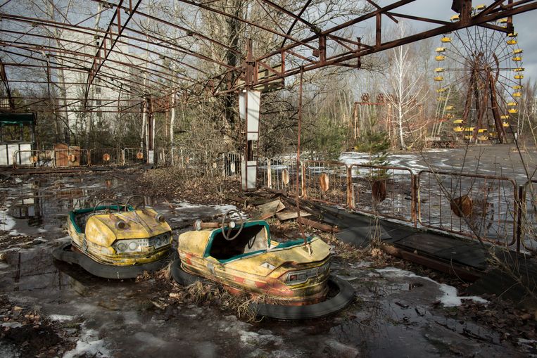
[{"label": "whole yellow bumper car with exposed steering wheel and black rubber bumper ring", "polygon": [[279,243],[265,221],[195,226],[179,236],[179,258],[172,263],[172,277],[181,285],[202,277],[232,293],[263,296],[271,303],[251,309],[277,319],[323,317],[354,298],[352,286],[330,274],[330,248],[318,237]]}]

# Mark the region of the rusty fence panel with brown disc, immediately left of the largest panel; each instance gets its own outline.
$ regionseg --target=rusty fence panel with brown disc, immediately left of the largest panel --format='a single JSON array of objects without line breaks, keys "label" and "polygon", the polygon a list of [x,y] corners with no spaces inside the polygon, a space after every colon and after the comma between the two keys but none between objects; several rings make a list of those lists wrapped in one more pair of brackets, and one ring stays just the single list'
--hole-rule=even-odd
[{"label": "rusty fence panel with brown disc, immediately left of the largest panel", "polygon": [[381,217],[416,223],[415,175],[406,167],[353,164],[350,207]]}]

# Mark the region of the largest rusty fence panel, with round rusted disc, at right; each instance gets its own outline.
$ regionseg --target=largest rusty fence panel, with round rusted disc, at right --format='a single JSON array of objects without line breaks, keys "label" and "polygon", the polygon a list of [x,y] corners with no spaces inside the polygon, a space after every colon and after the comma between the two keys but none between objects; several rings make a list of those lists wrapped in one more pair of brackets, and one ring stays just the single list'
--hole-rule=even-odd
[{"label": "largest rusty fence panel, with round rusted disc, at right", "polygon": [[502,245],[517,238],[517,185],[512,179],[422,170],[418,218],[423,226]]}]

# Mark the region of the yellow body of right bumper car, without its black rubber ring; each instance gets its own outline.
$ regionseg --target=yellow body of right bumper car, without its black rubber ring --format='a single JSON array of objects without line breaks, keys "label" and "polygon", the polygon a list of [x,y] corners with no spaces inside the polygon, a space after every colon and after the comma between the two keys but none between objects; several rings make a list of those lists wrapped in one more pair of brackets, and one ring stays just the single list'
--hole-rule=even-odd
[{"label": "yellow body of right bumper car, without its black rubber ring", "polygon": [[320,238],[277,243],[264,221],[247,222],[232,241],[222,228],[188,231],[178,239],[182,269],[222,283],[232,293],[266,295],[283,305],[324,300],[329,277],[329,245]]}]

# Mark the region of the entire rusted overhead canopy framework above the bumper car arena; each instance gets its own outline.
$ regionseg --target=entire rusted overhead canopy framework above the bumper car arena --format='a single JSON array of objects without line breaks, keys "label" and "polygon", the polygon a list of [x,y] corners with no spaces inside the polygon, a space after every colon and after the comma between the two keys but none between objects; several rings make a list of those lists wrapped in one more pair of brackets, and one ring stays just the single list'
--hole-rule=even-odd
[{"label": "entire rusted overhead canopy framework above the bumper car arena", "polygon": [[[141,113],[153,98],[159,106],[152,110],[162,111],[174,102],[171,96],[187,101],[281,83],[327,66],[360,68],[362,56],[465,27],[493,26],[508,33],[510,21],[506,27],[491,21],[537,8],[536,0],[504,0],[472,12],[472,1],[441,1],[446,14],[460,13],[458,21],[448,22],[408,13],[406,6],[415,0],[386,2],[362,1],[361,13],[355,14],[353,1],[348,12],[327,20],[324,1],[313,0],[289,8],[270,0],[4,0],[0,110]],[[248,18],[253,6],[263,18]],[[196,26],[208,16],[253,34],[253,46]],[[189,17],[194,20],[184,20]],[[386,18],[429,28],[385,39]],[[372,25],[372,36],[357,35],[366,25]],[[269,38],[274,45],[260,53],[256,41]]]}]

